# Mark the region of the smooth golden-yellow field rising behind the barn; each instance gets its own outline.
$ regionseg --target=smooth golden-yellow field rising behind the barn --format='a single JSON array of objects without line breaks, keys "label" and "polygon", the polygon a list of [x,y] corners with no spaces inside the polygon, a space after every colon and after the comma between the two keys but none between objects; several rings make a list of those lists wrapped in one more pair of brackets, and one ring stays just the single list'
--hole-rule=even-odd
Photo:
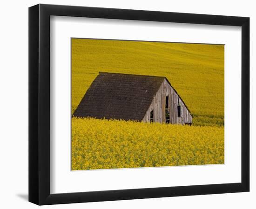
[{"label": "smooth golden-yellow field rising behind the barn", "polygon": [[224,46],[72,39],[72,113],[98,72],[165,76],[194,125],[224,124]]}]

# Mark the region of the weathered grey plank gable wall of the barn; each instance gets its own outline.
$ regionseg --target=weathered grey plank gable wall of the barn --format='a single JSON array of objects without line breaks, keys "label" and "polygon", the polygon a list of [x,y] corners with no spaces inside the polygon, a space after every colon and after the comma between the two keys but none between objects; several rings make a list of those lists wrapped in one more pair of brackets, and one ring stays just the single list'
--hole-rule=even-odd
[{"label": "weathered grey plank gable wall of the barn", "polygon": [[[150,112],[154,110],[154,122],[165,123],[165,99],[169,96],[170,124],[192,124],[192,117],[182,99],[178,96],[171,85],[164,79],[159,90],[156,92],[143,122],[150,122]],[[181,106],[181,117],[178,117],[178,105]]]}]

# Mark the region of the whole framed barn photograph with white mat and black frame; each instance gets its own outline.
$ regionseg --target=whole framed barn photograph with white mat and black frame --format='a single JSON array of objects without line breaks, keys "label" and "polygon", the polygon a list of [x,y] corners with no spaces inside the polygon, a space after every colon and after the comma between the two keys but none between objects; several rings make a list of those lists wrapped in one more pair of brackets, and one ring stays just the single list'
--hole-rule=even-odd
[{"label": "whole framed barn photograph with white mat and black frame", "polygon": [[249,191],[249,18],[29,8],[29,201]]}]

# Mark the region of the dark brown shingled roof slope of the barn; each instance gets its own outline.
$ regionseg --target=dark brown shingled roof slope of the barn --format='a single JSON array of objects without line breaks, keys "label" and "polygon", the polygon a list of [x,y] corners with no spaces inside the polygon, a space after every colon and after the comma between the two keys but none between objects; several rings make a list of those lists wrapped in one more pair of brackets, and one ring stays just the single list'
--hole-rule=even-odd
[{"label": "dark brown shingled roof slope of the barn", "polygon": [[164,79],[99,72],[73,116],[141,121]]}]

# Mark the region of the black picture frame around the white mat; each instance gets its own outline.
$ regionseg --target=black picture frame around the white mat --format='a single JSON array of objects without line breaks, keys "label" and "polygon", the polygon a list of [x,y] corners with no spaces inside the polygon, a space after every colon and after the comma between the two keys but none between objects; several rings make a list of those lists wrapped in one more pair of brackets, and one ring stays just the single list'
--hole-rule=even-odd
[{"label": "black picture frame around the white mat", "polygon": [[[241,183],[50,194],[50,16],[242,26]],[[29,8],[29,202],[38,205],[249,191],[249,18],[39,4]]]}]

